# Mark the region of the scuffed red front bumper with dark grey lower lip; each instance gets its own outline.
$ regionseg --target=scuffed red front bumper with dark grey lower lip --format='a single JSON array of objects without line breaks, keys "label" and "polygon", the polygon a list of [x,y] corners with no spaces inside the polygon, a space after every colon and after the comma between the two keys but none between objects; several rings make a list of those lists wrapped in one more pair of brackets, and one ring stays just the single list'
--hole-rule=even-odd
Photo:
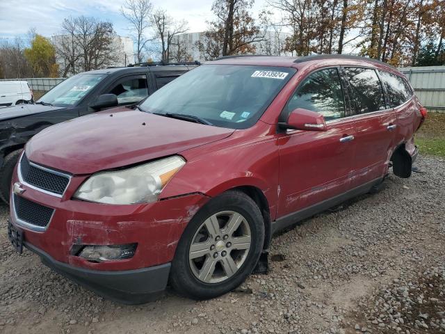
[{"label": "scuffed red front bumper with dark grey lower lip", "polygon": [[[22,183],[16,168],[13,184],[17,182],[20,191],[11,194],[11,225],[22,231],[24,247],[37,253],[44,264],[97,294],[122,303],[153,299],[167,285],[170,262],[184,228],[209,198],[191,193],[135,205],[73,200],[72,194],[85,179],[84,175],[72,177],[60,198]],[[19,218],[15,196],[53,209],[49,222],[35,228],[29,213],[41,215],[29,206],[26,219],[31,221]],[[81,245],[122,244],[137,244],[133,257],[94,262],[74,251]]]}]

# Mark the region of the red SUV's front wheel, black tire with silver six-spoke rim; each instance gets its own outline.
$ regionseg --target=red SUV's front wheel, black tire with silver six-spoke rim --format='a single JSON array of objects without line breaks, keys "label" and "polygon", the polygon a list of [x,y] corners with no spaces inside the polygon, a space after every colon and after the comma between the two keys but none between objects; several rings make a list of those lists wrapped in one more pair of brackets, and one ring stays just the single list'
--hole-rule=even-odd
[{"label": "red SUV's front wheel, black tire with silver six-spoke rim", "polygon": [[[215,222],[215,217],[218,218],[216,221],[220,230],[216,232],[213,229],[215,233],[210,234],[207,224]],[[235,221],[239,222],[237,228]],[[233,227],[235,228],[230,231]],[[248,234],[250,246],[245,249]],[[206,241],[201,242],[202,239]],[[221,246],[221,241],[225,246]],[[233,244],[229,241],[233,241]],[[193,247],[202,248],[202,252],[206,254],[191,259],[201,252],[199,250],[193,253],[197,248],[191,248],[192,244]],[[227,247],[228,244],[231,246]],[[226,294],[241,285],[250,275],[258,262],[263,244],[264,221],[259,207],[245,193],[227,191],[212,198],[188,223],[172,261],[170,284],[177,293],[192,299],[211,299]],[[204,249],[202,245],[209,248]],[[218,253],[216,258],[215,253]],[[211,271],[211,276],[206,276],[203,274],[204,268],[211,267],[206,267],[206,264],[211,263],[214,264],[214,271]],[[231,273],[227,273],[226,268],[229,268]]]}]

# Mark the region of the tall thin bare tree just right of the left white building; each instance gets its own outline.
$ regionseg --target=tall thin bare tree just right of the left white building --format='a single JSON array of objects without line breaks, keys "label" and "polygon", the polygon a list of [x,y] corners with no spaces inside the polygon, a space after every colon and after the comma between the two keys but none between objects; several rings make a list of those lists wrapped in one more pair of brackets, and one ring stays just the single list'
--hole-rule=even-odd
[{"label": "tall thin bare tree just right of the left white building", "polygon": [[136,56],[138,63],[143,61],[143,50],[149,39],[145,37],[145,31],[152,23],[152,3],[150,0],[125,0],[120,13],[130,23],[133,32],[133,40],[136,43]]}]

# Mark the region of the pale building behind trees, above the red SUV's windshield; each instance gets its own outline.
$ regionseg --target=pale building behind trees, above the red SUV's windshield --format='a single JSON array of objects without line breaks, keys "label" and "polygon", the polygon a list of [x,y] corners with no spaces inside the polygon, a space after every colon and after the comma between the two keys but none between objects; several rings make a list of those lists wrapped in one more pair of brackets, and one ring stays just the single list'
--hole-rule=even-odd
[{"label": "pale building behind trees, above the red SUV's windshield", "polygon": [[[289,35],[289,33],[266,31],[264,40],[252,43],[256,47],[255,54],[270,56],[287,55],[282,51],[282,48],[284,47],[286,37]],[[170,55],[174,58],[175,53],[177,53],[177,45],[180,45],[180,47],[186,51],[194,61],[205,61],[204,55],[197,47],[197,43],[200,41],[202,42],[203,40],[204,32],[202,31],[197,33],[181,33],[175,37]]]}]

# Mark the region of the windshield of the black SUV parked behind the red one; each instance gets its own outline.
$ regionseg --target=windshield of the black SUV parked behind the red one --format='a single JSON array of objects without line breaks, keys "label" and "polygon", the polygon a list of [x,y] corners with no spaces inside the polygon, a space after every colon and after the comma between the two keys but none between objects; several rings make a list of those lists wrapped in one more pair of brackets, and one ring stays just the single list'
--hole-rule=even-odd
[{"label": "windshield of the black SUV parked behind the red one", "polygon": [[38,102],[48,103],[53,106],[74,106],[93,87],[99,84],[107,74],[77,74],[60,82],[48,93],[40,97]]}]

